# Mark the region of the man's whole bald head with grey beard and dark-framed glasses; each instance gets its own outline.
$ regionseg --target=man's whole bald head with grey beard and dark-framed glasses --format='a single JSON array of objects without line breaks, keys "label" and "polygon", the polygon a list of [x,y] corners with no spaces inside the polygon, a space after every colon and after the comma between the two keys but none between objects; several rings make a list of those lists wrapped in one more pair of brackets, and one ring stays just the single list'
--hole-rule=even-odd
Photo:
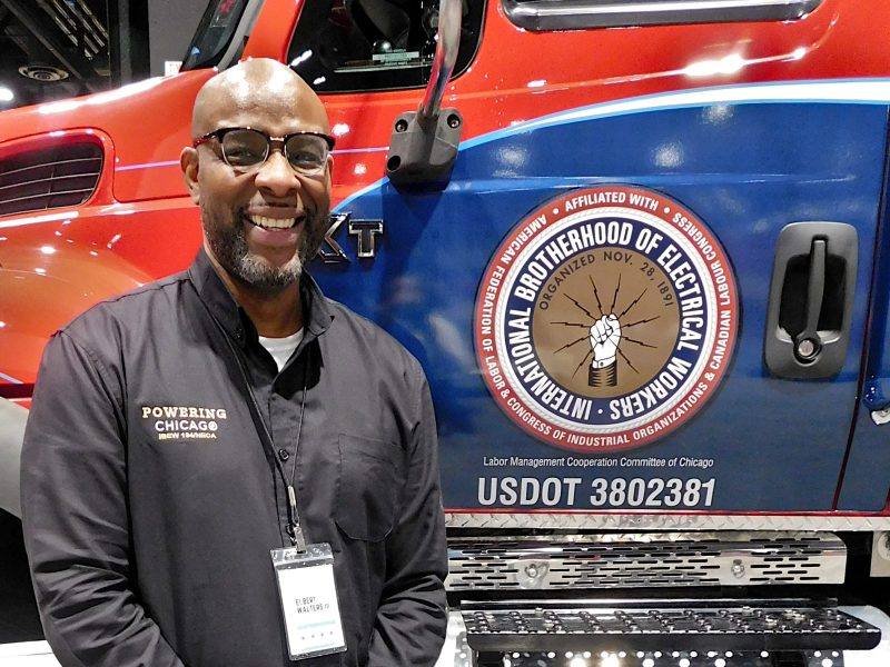
[{"label": "man's whole bald head with grey beard and dark-framed glasses", "polygon": [[[237,128],[275,139],[263,147],[265,159],[229,163],[224,139],[215,132]],[[317,137],[328,135],[322,101],[287,66],[247,60],[204,84],[195,100],[191,132],[195,145],[182,149],[179,163],[189,195],[200,207],[205,249],[217,272],[243,297],[250,292],[271,298],[284,291],[293,296],[330,220],[334,161],[327,153],[329,138]],[[299,162],[300,142],[312,135],[316,137],[308,139],[306,151],[317,150],[324,166],[307,171],[291,162],[290,140],[280,140],[297,137]],[[234,137],[236,155],[249,150]],[[261,158],[256,143],[253,150]]]}]

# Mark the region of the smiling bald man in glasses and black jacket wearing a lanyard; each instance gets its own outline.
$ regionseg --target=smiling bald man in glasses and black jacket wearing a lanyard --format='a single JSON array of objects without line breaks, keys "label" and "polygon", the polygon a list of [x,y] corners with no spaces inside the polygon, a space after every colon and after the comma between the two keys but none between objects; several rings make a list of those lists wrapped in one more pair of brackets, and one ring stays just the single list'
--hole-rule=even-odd
[{"label": "smiling bald man in glasses and black jacket wearing a lanyard", "polygon": [[[428,387],[304,271],[328,220],[327,132],[280,63],[210,79],[180,159],[202,251],[47,347],[22,504],[62,665],[435,663],[446,566]],[[270,551],[304,541],[333,552],[346,653],[290,643],[300,596]],[[301,613],[324,606],[310,598]]]}]

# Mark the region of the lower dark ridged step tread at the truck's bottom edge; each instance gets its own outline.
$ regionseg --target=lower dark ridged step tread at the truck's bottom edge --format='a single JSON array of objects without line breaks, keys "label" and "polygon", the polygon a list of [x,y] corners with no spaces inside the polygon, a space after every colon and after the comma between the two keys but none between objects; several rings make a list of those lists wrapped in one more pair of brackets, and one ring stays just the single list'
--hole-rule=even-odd
[{"label": "lower dark ridged step tread at the truck's bottom edge", "polygon": [[835,600],[505,600],[461,613],[479,653],[868,650],[881,640]]}]

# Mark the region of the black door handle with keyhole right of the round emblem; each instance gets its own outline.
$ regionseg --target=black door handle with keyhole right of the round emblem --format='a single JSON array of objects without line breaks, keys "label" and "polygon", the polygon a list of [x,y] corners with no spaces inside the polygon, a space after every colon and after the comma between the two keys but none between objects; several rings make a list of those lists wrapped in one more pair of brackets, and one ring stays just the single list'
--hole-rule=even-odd
[{"label": "black door handle with keyhole right of the round emblem", "polygon": [[857,259],[850,225],[794,222],[779,233],[763,345],[772,375],[813,380],[843,367]]}]

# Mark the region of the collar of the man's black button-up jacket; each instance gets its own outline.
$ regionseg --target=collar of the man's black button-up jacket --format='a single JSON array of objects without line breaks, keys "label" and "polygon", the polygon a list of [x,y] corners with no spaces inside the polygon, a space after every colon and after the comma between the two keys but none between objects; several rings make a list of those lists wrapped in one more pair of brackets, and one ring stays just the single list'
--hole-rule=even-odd
[{"label": "collar of the man's black button-up jacket", "polygon": [[[257,331],[254,322],[226,288],[204,248],[198,250],[195,262],[188,269],[188,276],[210,315],[240,347],[247,345],[248,340],[256,342]],[[299,291],[305,331],[301,346],[305,346],[330,327],[334,315],[318,283],[305,270],[300,278]]]}]

